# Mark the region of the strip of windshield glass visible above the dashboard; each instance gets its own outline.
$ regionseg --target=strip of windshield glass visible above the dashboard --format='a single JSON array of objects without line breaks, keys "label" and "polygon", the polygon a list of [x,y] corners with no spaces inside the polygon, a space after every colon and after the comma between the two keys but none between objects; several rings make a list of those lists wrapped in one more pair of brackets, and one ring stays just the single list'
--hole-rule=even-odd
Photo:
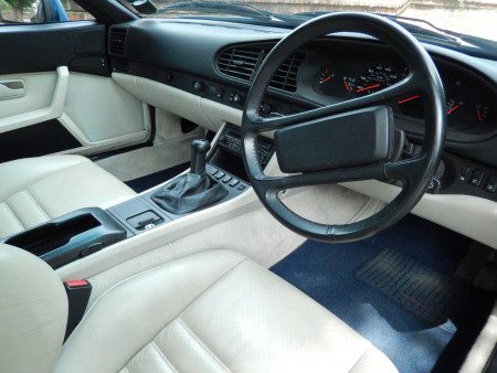
[{"label": "strip of windshield glass visible above the dashboard", "polygon": [[[123,0],[124,1],[124,0]],[[157,8],[155,14],[144,14],[144,0],[128,0],[142,17],[244,17],[282,21],[294,17],[306,18],[332,11],[361,11],[387,14],[405,20],[419,19],[432,23],[436,29],[497,41],[497,0],[151,0]],[[278,15],[281,18],[278,19]],[[295,25],[295,24],[294,24]],[[430,25],[421,25],[430,28]],[[434,28],[432,28],[434,29]],[[435,29],[435,30],[436,30]]]}]

